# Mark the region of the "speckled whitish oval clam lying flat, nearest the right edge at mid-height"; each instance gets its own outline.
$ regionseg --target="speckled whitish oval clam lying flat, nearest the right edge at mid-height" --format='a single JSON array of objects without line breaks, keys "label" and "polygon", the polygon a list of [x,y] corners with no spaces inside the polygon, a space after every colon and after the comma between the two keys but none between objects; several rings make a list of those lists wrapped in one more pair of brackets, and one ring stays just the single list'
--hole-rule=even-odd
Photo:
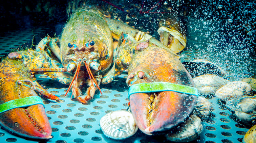
[{"label": "speckled whitish oval clam lying flat, nearest the right edge at mid-height", "polygon": [[215,92],[215,96],[221,100],[230,100],[249,94],[251,86],[243,81],[229,82]]}]

